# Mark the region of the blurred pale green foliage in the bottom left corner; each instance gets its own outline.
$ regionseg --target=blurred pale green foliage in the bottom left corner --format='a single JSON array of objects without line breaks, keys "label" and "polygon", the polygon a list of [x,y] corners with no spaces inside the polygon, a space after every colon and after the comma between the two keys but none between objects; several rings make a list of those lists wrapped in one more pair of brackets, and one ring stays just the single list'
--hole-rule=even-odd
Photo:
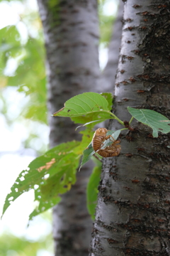
[{"label": "blurred pale green foliage in the bottom left corner", "polygon": [[[30,232],[26,232],[26,235],[17,237],[11,234],[8,230],[0,235],[0,255],[1,256],[38,256],[42,251],[42,255],[54,255],[54,245],[52,240],[52,232],[50,226],[52,226],[51,211],[48,210],[42,213],[36,221],[32,223],[32,226],[28,227],[32,230],[36,230],[36,227],[40,223],[46,223],[46,231],[41,234],[37,233],[34,238],[30,238],[28,235]],[[43,230],[43,229],[42,229]],[[33,232],[33,231],[32,231]],[[45,233],[46,232],[46,233]],[[36,231],[35,231],[36,233]]]}]

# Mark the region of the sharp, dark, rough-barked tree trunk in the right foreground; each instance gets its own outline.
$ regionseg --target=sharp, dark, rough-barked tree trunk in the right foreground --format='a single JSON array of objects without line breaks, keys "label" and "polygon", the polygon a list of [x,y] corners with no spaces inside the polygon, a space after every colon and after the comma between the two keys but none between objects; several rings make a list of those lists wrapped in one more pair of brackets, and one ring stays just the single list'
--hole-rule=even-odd
[{"label": "sharp, dark, rough-barked tree trunk in the right foreground", "polygon": [[[128,106],[170,117],[169,13],[169,1],[125,1],[114,106],[122,120]],[[132,124],[120,156],[103,161],[91,256],[170,255],[170,135]]]}]

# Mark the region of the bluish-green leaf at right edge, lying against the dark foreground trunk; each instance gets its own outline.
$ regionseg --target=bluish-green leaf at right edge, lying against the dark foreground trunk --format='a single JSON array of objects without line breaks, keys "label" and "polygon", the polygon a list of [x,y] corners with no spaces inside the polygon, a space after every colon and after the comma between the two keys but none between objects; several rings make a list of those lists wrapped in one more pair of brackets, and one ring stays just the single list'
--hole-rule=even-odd
[{"label": "bluish-green leaf at right edge, lying against the dark foreground trunk", "polygon": [[158,137],[158,132],[162,132],[164,134],[170,132],[168,123],[162,122],[169,121],[169,119],[164,117],[163,114],[159,114],[153,110],[137,110],[132,107],[128,107],[128,111],[133,117],[135,117],[135,119],[137,119],[137,121],[142,122],[142,124],[146,124],[153,129],[153,137]]}]

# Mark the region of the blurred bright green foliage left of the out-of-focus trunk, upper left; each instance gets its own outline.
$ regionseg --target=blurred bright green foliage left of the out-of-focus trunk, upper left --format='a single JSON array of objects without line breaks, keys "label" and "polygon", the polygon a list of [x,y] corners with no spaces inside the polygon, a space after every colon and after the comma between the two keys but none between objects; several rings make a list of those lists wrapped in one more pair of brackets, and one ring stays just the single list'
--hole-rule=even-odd
[{"label": "blurred bright green foliage left of the out-of-focus trunk, upper left", "polygon": [[[1,2],[3,1],[0,1],[0,4]],[[6,2],[6,5],[10,6],[11,2],[13,1]],[[35,129],[40,127],[41,123],[41,126],[44,126],[43,132],[45,129],[47,132],[42,24],[38,11],[28,8],[26,1],[20,1],[19,6],[22,6],[23,13],[18,12],[18,23],[0,30],[0,112],[9,128],[15,122],[26,127],[28,136],[22,142],[22,147],[42,154],[47,150],[47,139],[45,142],[42,134],[38,134],[38,129]],[[15,12],[15,9],[13,11]],[[18,100],[18,94],[22,95],[22,100]],[[40,143],[37,143],[38,139]]]}]

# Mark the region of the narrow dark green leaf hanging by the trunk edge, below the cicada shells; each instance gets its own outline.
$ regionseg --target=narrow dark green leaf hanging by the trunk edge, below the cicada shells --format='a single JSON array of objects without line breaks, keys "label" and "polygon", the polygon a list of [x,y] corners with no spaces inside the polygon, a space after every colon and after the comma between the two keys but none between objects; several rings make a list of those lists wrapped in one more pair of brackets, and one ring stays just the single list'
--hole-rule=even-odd
[{"label": "narrow dark green leaf hanging by the trunk edge, below the cicada shells", "polygon": [[87,196],[87,208],[92,220],[95,219],[95,208],[97,205],[98,196],[98,184],[101,177],[101,163],[100,166],[95,166],[94,170],[89,178],[87,185],[86,196]]}]

